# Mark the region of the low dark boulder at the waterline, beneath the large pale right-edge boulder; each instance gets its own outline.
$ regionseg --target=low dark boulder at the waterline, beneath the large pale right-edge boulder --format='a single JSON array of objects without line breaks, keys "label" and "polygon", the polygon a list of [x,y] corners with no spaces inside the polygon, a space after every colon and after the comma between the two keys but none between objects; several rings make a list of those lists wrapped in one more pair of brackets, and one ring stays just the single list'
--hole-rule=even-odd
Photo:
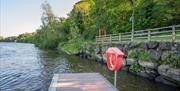
[{"label": "low dark boulder at the waterline, beneath the large pale right-edge boulder", "polygon": [[173,82],[171,82],[171,81],[169,81],[169,80],[166,80],[163,76],[158,76],[158,77],[156,77],[156,78],[155,78],[155,81],[156,81],[156,82],[163,83],[163,84],[166,84],[166,85],[178,87],[178,84],[173,83]]}]

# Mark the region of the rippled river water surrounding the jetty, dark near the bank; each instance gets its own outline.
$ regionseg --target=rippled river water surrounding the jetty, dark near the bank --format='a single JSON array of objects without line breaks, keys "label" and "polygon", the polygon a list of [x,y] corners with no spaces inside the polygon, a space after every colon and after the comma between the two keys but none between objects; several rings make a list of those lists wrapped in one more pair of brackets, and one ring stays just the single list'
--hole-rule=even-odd
[{"label": "rippled river water surrounding the jetty, dark near the bank", "polygon": [[[0,43],[0,91],[47,91],[54,73],[74,72],[99,72],[113,80],[113,72],[93,60],[40,50],[33,44]],[[124,71],[117,81],[121,91],[178,91]]]}]

